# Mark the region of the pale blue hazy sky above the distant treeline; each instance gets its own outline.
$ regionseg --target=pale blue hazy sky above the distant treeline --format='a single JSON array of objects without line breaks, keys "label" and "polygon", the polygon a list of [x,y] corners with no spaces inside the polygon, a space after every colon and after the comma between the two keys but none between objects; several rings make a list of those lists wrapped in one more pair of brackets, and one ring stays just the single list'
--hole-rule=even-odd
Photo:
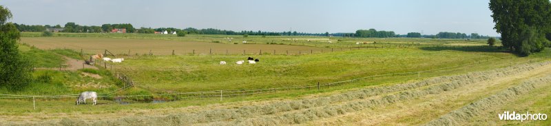
[{"label": "pale blue hazy sky above the distant treeline", "polygon": [[407,32],[499,34],[488,0],[2,0],[12,22],[81,25],[132,23],[140,27],[224,30],[355,32],[375,28]]}]

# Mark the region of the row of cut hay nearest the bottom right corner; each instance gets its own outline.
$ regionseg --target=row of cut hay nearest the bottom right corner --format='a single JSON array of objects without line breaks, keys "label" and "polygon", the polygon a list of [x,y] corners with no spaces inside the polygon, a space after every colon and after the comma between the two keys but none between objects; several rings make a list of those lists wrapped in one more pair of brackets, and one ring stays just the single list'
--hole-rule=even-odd
[{"label": "row of cut hay nearest the bottom right corner", "polygon": [[461,125],[468,123],[470,118],[484,114],[486,109],[503,105],[508,101],[511,101],[518,96],[526,94],[531,90],[544,87],[551,84],[551,76],[545,76],[542,78],[535,78],[529,81],[524,81],[520,85],[510,87],[507,90],[503,90],[497,94],[489,96],[488,98],[481,99],[474,103],[470,103],[461,109],[457,109],[450,112],[440,118],[431,120],[425,125]]}]

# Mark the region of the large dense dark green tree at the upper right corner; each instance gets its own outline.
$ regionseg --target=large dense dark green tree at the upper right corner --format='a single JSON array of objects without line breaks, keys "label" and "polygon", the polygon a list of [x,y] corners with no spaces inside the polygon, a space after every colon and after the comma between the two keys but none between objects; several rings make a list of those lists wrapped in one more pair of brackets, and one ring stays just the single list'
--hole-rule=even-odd
[{"label": "large dense dark green tree at the upper right corner", "polygon": [[550,1],[490,0],[489,8],[505,48],[528,56],[548,45],[545,35],[551,33]]}]

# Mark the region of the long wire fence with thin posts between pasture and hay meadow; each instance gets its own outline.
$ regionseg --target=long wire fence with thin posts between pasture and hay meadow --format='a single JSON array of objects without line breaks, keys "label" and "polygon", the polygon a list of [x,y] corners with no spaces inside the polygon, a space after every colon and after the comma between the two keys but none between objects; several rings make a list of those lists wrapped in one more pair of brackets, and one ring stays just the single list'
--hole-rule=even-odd
[{"label": "long wire fence with thin posts between pasture and hay meadow", "polygon": [[[423,71],[417,71],[417,72],[399,72],[399,73],[390,73],[390,74],[377,74],[377,75],[371,75],[371,76],[364,76],[361,78],[353,78],[349,80],[344,81],[336,81],[331,83],[315,83],[313,85],[293,85],[293,86],[287,86],[287,87],[273,87],[273,88],[265,88],[265,89],[242,89],[242,90],[211,90],[211,91],[202,91],[202,92],[176,92],[176,93],[165,93],[165,94],[143,94],[143,95],[114,95],[118,92],[123,92],[124,90],[129,89],[130,87],[141,87],[140,85],[134,85],[134,81],[130,79],[129,77],[125,76],[121,73],[116,73],[115,76],[117,76],[121,81],[123,81],[125,84],[123,87],[114,90],[112,92],[107,92],[104,94],[100,94],[98,97],[101,98],[112,98],[112,99],[123,99],[123,98],[130,98],[133,97],[149,97],[152,98],[154,96],[161,97],[161,98],[170,98],[171,101],[178,101],[183,99],[189,99],[189,98],[220,98],[220,101],[222,101],[223,98],[228,97],[236,97],[236,96],[249,96],[253,94],[266,94],[266,93],[276,93],[281,92],[285,90],[321,90],[324,87],[329,88],[330,86],[334,85],[340,85],[343,83],[350,83],[353,81],[360,81],[366,78],[376,78],[376,77],[382,77],[382,76],[399,76],[399,75],[413,75],[417,74],[417,77],[419,78],[420,74],[424,72],[434,72],[439,70],[451,70],[453,68],[459,68],[464,67],[467,65],[473,65],[475,63],[483,63],[486,61],[492,61],[495,59],[507,59],[512,58],[512,56],[504,56],[504,57],[496,57],[492,59],[486,59],[482,61],[475,61],[472,63],[466,63],[462,65],[455,65],[450,67],[441,67],[433,70],[423,70]],[[101,63],[101,61],[100,61]],[[107,69],[107,64],[103,62],[104,66],[103,68]],[[110,68],[112,69],[112,64],[110,65]],[[65,95],[19,95],[19,94],[0,94],[0,98],[32,98],[33,105],[35,98],[78,98],[79,94],[65,94]]]}]

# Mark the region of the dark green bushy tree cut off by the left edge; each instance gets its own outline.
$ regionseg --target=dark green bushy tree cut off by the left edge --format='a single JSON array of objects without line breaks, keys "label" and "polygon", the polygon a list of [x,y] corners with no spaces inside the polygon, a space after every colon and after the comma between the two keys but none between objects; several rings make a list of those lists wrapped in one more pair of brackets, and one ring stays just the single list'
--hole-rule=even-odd
[{"label": "dark green bushy tree cut off by the left edge", "polygon": [[30,83],[32,67],[17,50],[21,34],[15,25],[6,23],[11,18],[10,10],[0,6],[0,86],[17,91]]}]

